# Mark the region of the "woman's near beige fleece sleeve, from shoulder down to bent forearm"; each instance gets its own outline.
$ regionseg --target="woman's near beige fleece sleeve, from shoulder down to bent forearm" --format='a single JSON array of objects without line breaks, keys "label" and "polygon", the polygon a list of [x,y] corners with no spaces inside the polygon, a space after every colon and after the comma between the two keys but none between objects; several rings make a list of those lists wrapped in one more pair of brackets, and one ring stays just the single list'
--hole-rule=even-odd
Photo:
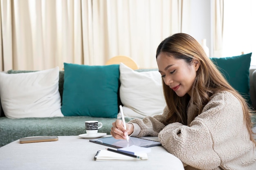
[{"label": "woman's near beige fleece sleeve, from shoulder down to bent forearm", "polygon": [[[238,151],[240,146],[235,143],[238,134],[245,134],[244,128],[243,110],[238,99],[231,93],[219,93],[189,126],[169,124],[159,132],[158,138],[162,146],[182,162],[211,170],[246,152],[247,149],[242,149],[244,144]],[[230,152],[233,149],[234,153]]]}]

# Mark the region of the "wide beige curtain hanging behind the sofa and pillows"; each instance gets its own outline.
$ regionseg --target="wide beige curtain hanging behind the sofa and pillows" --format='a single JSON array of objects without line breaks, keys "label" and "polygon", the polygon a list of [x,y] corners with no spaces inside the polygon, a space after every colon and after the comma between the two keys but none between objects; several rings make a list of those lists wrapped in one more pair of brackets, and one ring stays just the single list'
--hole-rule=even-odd
[{"label": "wide beige curtain hanging behind the sofa and pillows", "polygon": [[0,2],[2,71],[104,65],[115,55],[157,67],[158,44],[181,32],[182,0]]}]

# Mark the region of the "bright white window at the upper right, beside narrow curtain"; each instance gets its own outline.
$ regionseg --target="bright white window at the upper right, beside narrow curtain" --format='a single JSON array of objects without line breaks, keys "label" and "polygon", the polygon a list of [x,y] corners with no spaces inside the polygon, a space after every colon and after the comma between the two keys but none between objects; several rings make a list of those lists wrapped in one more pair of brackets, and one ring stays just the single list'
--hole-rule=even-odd
[{"label": "bright white window at the upper right, beside narrow curtain", "polygon": [[224,1],[223,57],[252,52],[256,65],[256,1]]}]

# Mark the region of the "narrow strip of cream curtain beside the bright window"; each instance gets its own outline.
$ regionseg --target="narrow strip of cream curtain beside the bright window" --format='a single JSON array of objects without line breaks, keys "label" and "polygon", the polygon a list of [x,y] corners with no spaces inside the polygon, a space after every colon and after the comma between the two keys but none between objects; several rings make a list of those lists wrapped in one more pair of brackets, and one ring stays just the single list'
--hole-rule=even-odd
[{"label": "narrow strip of cream curtain beside the bright window", "polygon": [[213,1],[213,57],[222,57],[224,0]]}]

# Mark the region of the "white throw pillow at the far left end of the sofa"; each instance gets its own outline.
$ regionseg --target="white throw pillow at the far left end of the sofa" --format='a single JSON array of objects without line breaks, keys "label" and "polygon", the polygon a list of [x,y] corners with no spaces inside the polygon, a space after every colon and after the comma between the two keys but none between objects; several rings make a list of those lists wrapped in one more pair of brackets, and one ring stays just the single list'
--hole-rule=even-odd
[{"label": "white throw pillow at the far left end of the sofa", "polygon": [[0,98],[8,118],[63,117],[59,68],[31,73],[0,73]]}]

